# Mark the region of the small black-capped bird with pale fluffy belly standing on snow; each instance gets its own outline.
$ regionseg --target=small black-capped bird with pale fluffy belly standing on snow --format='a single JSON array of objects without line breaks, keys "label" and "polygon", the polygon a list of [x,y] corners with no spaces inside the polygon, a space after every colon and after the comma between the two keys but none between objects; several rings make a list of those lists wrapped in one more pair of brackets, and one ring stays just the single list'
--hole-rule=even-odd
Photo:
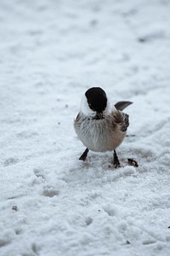
[{"label": "small black-capped bird with pale fluffy belly standing on snow", "polygon": [[80,112],[74,120],[77,137],[86,147],[79,160],[86,160],[88,151],[113,151],[113,166],[120,167],[116,148],[127,134],[129,116],[122,110],[133,102],[111,104],[100,87],[91,87],[82,96]]}]

